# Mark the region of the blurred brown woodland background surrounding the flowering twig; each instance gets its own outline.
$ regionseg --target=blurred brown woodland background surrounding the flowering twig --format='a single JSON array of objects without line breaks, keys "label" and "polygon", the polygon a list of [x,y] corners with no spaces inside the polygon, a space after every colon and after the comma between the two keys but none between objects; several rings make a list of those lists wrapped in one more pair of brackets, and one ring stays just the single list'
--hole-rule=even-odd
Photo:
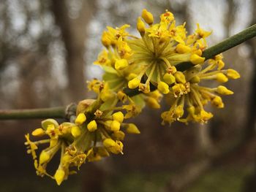
[{"label": "blurred brown woodland background surrounding the flowering twig", "polygon": [[[136,34],[143,8],[156,20],[170,10],[189,32],[196,23],[213,30],[209,46],[256,23],[255,0],[0,0],[0,109],[85,99],[86,80],[102,73],[92,65],[102,31],[129,23]],[[41,120],[1,121],[0,191],[256,191],[255,50],[252,39],[223,54],[241,79],[227,82],[235,94],[224,97],[224,109],[209,109],[215,116],[208,124],[160,126],[160,112],[146,109],[124,155],[87,163],[60,187],[37,177],[23,145]]]}]

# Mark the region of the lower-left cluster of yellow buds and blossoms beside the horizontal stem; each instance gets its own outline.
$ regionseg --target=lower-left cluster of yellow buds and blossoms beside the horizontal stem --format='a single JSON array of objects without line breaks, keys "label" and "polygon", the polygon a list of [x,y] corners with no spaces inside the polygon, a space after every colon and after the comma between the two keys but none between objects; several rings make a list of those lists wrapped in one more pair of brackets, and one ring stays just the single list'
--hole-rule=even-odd
[{"label": "lower-left cluster of yellow buds and blossoms beside the horizontal stem", "polygon": [[[32,142],[29,134],[25,136],[25,145],[34,159],[37,174],[48,175],[56,180],[58,185],[66,180],[69,174],[75,173],[71,170],[72,167],[79,169],[86,161],[99,161],[110,153],[123,154],[124,131],[128,134],[140,134],[135,124],[124,123],[124,119],[138,115],[140,107],[132,101],[116,107],[118,96],[110,91],[108,83],[92,80],[89,82],[89,88],[96,92],[98,97],[80,101],[74,123],[64,122],[59,125],[53,119],[43,120],[42,127],[35,129],[32,136],[44,139]],[[41,144],[48,144],[48,147],[42,150],[37,158],[36,150]],[[59,150],[59,168],[51,176],[46,167]]]}]

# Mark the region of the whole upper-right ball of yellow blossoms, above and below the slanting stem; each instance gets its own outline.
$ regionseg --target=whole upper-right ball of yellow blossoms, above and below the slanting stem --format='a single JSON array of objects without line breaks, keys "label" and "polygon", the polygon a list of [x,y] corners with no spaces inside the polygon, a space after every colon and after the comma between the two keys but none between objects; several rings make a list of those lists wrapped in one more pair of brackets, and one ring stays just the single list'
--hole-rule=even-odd
[{"label": "whole upper-right ball of yellow blossoms, above and below the slanting stem", "polygon": [[[213,117],[211,112],[204,110],[208,102],[218,108],[224,107],[219,95],[229,95],[232,91],[222,85],[207,88],[199,84],[202,80],[223,83],[240,75],[233,69],[222,69],[225,66],[222,55],[205,62],[202,54],[210,31],[197,24],[195,32],[187,35],[185,23],[176,26],[173,14],[168,11],[154,24],[154,16],[146,9],[137,21],[140,37],[125,31],[128,27],[108,27],[108,31],[103,32],[102,44],[106,49],[94,62],[105,69],[103,78],[113,91],[128,87],[145,95],[151,93],[151,85],[154,85],[170,101],[170,110],[161,115],[163,124],[175,120],[205,123]],[[187,61],[194,66],[185,72],[178,71],[177,64]],[[159,108],[159,99],[154,100],[153,105]],[[184,114],[187,118],[183,118]]]}]

